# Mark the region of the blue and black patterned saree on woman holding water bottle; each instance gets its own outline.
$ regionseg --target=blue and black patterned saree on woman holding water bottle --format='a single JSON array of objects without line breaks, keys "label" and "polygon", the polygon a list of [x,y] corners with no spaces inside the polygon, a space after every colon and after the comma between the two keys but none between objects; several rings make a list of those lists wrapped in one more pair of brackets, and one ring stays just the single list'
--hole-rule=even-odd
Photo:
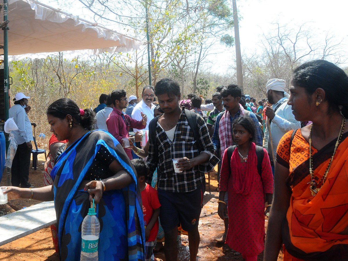
[{"label": "blue and black patterned saree on woman holding water bottle", "polygon": [[81,224],[90,201],[89,193],[78,188],[100,149],[111,154],[133,182],[124,189],[105,191],[96,206],[100,221],[99,261],[144,260],[144,221],[137,175],[119,142],[101,130],[89,132],[71,144],[51,172],[60,259],[80,260]]}]

